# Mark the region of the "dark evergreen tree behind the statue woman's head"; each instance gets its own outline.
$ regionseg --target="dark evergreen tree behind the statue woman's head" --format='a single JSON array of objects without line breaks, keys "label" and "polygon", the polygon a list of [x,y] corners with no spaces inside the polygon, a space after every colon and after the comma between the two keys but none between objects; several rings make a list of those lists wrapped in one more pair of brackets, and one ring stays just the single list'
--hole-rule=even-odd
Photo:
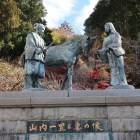
[{"label": "dark evergreen tree behind the statue woman's head", "polygon": [[100,0],[86,19],[85,32],[90,34],[112,22],[124,36],[135,38],[140,32],[140,2],[138,0]]}]

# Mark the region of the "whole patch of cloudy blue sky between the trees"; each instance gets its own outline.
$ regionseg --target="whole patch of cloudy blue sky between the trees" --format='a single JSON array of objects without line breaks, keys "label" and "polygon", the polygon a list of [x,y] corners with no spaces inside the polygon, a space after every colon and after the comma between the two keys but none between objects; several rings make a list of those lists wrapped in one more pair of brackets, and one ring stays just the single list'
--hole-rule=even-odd
[{"label": "whole patch of cloudy blue sky between the trees", "polygon": [[59,28],[65,20],[75,33],[83,34],[84,21],[93,12],[99,0],[43,0],[48,14],[45,19],[49,28]]}]

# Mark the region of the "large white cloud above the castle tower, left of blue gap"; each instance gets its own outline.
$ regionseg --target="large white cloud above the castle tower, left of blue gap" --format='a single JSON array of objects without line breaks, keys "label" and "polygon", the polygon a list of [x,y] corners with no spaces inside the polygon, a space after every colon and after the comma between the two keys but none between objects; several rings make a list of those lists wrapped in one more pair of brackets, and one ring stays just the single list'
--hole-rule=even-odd
[{"label": "large white cloud above the castle tower, left of blue gap", "polygon": [[73,12],[76,2],[77,0],[43,0],[48,13],[45,17],[47,26],[58,28],[65,17]]}]

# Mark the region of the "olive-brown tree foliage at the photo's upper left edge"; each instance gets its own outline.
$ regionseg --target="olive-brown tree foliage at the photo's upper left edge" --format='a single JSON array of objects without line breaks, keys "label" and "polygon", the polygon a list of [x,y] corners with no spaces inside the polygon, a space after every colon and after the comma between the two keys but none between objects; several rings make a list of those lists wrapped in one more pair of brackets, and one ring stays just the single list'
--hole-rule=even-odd
[{"label": "olive-brown tree foliage at the photo's upper left edge", "polygon": [[0,0],[0,47],[10,45],[13,30],[20,24],[20,10],[14,0]]}]

